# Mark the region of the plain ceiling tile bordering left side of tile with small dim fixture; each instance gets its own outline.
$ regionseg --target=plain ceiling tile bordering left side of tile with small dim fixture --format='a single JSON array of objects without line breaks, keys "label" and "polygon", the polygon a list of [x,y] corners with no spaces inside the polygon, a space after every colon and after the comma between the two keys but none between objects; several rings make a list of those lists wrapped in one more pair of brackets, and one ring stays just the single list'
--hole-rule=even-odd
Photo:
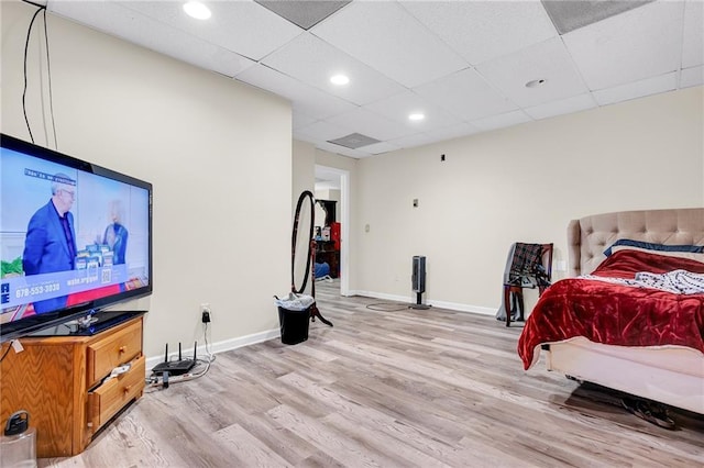
[{"label": "plain ceiling tile bordering left side of tile with small dim fixture", "polygon": [[472,68],[419,86],[414,91],[468,121],[517,109]]}]

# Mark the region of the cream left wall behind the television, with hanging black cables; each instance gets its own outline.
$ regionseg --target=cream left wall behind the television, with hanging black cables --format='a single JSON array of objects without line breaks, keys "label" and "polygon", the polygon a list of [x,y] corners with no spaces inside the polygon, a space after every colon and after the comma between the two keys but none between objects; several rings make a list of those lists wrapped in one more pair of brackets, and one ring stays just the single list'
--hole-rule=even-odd
[{"label": "cream left wall behind the television, with hanging black cables", "polygon": [[[35,9],[1,8],[2,132],[29,140],[22,55]],[[28,105],[45,145],[40,30]],[[150,309],[147,356],[200,337],[202,302],[213,342],[277,333],[272,294],[289,288],[289,103],[52,14],[48,35],[58,151],[154,185],[154,293],[131,304]]]}]

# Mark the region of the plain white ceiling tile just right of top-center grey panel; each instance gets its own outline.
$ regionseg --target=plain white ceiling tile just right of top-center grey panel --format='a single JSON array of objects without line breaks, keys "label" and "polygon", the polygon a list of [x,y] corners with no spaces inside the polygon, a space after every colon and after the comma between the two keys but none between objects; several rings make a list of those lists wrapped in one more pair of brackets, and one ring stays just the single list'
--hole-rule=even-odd
[{"label": "plain white ceiling tile just right of top-center grey panel", "polygon": [[396,2],[352,2],[310,31],[408,88],[468,65]]}]

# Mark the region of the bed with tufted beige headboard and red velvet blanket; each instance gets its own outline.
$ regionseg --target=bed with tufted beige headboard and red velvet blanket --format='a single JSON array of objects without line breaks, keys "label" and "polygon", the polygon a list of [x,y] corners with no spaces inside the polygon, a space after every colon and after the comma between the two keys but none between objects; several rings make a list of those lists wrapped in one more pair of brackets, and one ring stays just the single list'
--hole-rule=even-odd
[{"label": "bed with tufted beige headboard and red velvet blanket", "polygon": [[[631,245],[614,247],[606,257],[604,250],[619,239],[703,246],[704,209],[625,211],[571,221],[570,278],[548,288],[526,321],[518,345],[524,367],[531,368],[544,353],[548,370],[704,414],[704,294],[619,282],[642,264],[656,265],[658,274],[680,267],[704,274],[704,254]],[[576,278],[584,275],[591,278]],[[610,282],[600,275],[622,279]]]}]

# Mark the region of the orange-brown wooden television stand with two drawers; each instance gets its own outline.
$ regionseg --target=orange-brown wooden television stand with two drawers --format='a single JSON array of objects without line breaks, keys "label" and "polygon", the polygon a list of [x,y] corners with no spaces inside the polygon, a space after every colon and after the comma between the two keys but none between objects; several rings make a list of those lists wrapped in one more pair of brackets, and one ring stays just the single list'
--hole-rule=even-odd
[{"label": "orange-brown wooden television stand with two drawers", "polygon": [[[80,454],[112,416],[142,395],[143,313],[132,314],[89,336],[20,338],[24,350],[10,349],[0,364],[0,421],[4,426],[15,411],[29,412],[37,457]],[[127,363],[130,370],[103,381]]]}]

